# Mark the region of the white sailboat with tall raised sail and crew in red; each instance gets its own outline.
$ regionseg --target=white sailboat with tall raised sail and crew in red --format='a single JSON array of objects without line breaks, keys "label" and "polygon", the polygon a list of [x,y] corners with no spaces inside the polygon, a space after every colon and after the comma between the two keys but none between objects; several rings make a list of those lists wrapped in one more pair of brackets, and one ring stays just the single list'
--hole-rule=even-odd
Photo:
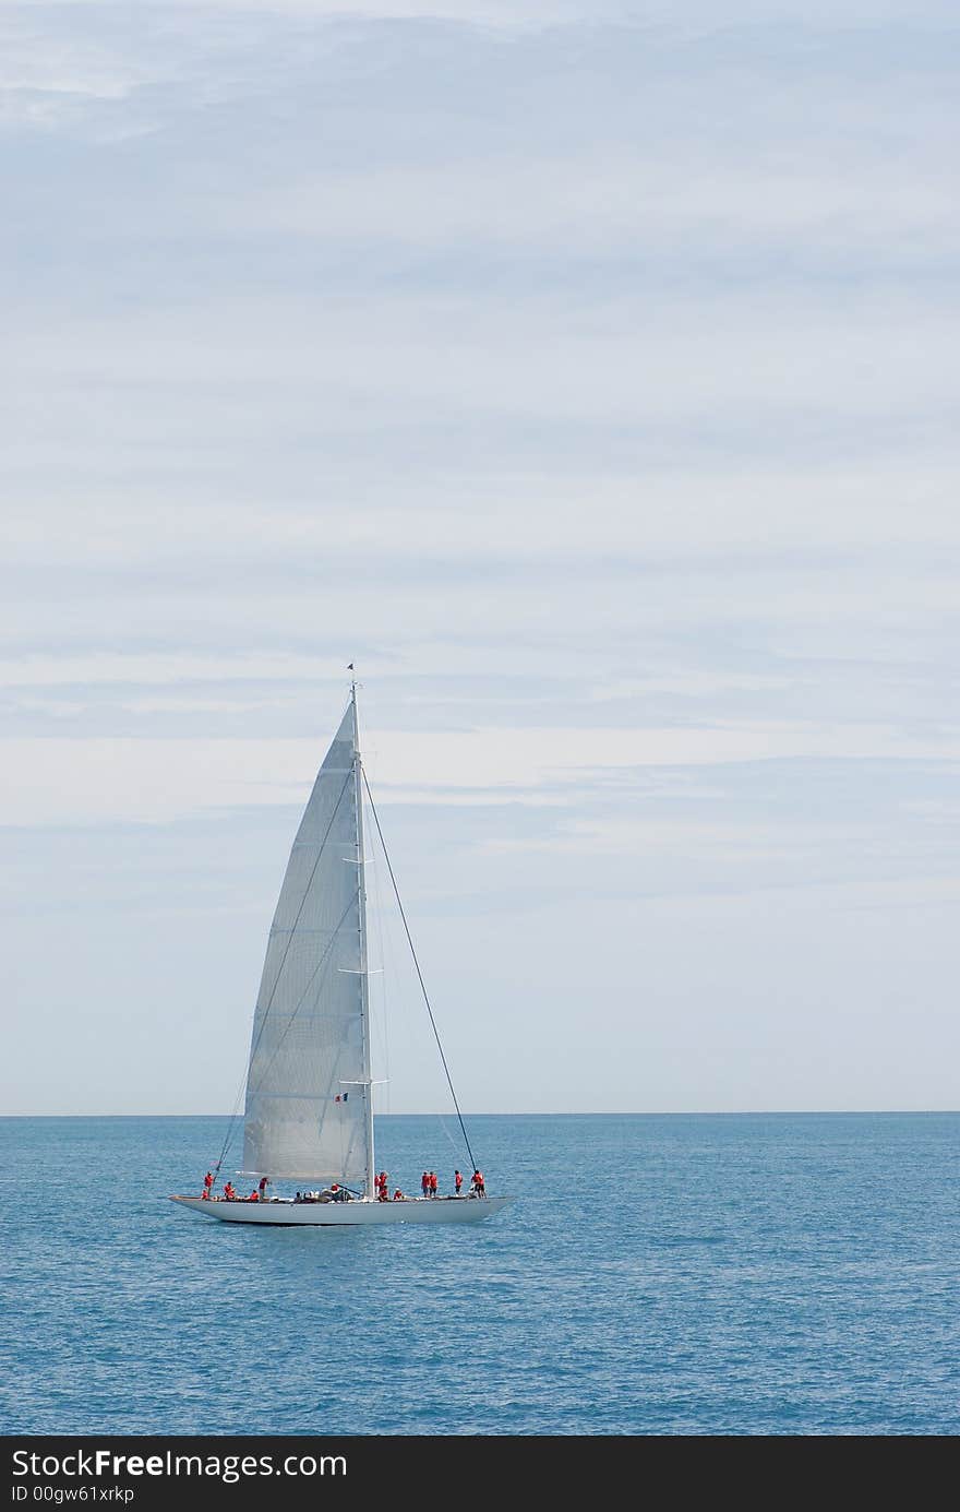
[{"label": "white sailboat with tall raised sail and crew in red", "polygon": [[[366,789],[366,804],[364,804]],[[382,1194],[373,1154],[364,806],[376,826],[401,918],[407,915],[360,759],[357,683],[293,841],[254,1012],[243,1114],[243,1170],[257,1199],[215,1193],[172,1202],[224,1223],[314,1226],[476,1223],[513,1199],[487,1194],[454,1093],[423,975],[417,978],[473,1178],[466,1194]],[[230,1137],[230,1134],[228,1134]],[[225,1155],[216,1163],[216,1173]],[[295,1196],[269,1191],[296,1182]],[[301,1190],[302,1188],[302,1190]],[[268,1194],[269,1191],[269,1194]]]}]

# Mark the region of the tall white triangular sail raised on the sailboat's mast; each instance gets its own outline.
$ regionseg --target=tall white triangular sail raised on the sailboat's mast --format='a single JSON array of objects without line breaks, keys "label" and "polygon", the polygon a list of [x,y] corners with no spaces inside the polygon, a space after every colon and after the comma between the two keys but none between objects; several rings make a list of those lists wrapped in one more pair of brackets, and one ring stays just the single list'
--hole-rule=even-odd
[{"label": "tall white triangular sail raised on the sailboat's mast", "polygon": [[351,702],[301,820],[263,965],[243,1169],[366,1182],[372,1152],[357,723]]}]

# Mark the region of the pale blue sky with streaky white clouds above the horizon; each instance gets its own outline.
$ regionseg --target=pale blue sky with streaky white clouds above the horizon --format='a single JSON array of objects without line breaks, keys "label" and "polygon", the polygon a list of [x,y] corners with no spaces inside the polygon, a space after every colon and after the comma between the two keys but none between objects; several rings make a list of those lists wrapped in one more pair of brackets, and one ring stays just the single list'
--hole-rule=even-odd
[{"label": "pale blue sky with streaky white clouds above the horizon", "polygon": [[466,1108],[957,1107],[957,36],[3,8],[0,1111],[233,1104],[348,661]]}]

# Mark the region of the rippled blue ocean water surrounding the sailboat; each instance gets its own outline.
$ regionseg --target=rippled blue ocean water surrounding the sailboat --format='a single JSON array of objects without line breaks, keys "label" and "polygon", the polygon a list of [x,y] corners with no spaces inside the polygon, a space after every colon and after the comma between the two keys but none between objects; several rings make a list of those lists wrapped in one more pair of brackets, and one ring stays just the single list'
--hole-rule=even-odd
[{"label": "rippled blue ocean water surrounding the sailboat", "polygon": [[960,1430],[960,1114],[473,1117],[520,1201],[382,1231],[168,1202],[224,1128],[0,1120],[5,1433]]}]

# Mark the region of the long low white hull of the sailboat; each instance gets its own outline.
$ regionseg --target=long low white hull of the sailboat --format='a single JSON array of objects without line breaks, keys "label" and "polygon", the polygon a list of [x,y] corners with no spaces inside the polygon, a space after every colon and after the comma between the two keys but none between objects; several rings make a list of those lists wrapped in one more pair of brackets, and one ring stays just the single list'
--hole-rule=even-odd
[{"label": "long low white hull of the sailboat", "polygon": [[224,1202],[222,1199],[172,1196],[184,1208],[221,1223],[274,1223],[292,1228],[355,1228],[364,1223],[478,1223],[493,1217],[513,1198],[408,1198],[405,1202]]}]

